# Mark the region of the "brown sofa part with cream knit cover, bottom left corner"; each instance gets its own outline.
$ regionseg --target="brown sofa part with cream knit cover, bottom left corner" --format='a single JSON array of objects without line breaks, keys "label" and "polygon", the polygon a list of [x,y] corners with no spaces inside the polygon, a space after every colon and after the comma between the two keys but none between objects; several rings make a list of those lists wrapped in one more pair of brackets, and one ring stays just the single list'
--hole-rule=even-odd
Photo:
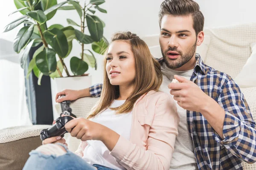
[{"label": "brown sofa part with cream knit cover, bottom left corner", "polygon": [[21,170],[29,152],[42,144],[40,131],[48,127],[31,125],[0,130],[0,170]]}]

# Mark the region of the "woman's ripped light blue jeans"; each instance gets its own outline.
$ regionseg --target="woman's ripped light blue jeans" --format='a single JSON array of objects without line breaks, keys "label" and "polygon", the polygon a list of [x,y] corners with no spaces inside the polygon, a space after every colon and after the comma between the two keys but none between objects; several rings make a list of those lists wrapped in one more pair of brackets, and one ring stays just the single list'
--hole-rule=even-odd
[{"label": "woman's ripped light blue jeans", "polygon": [[[64,144],[57,143],[64,147],[65,151],[61,151],[61,147],[56,147],[56,151],[61,154],[46,154],[40,150],[32,150],[29,159],[23,167],[23,170],[113,170],[99,164],[90,165],[80,156],[67,149]],[[39,148],[39,147],[38,147]],[[55,152],[54,148],[50,152]]]}]

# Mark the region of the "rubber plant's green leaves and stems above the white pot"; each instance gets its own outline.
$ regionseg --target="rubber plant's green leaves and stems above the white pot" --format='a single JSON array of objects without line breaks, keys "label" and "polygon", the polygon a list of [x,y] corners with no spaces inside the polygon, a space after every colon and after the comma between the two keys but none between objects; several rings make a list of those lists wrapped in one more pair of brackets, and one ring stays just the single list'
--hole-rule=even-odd
[{"label": "rubber plant's green leaves and stems above the white pot", "polygon": [[[40,85],[43,75],[53,79],[81,77],[88,75],[85,72],[89,66],[97,68],[93,52],[85,49],[84,45],[91,44],[92,50],[98,54],[103,54],[108,46],[108,41],[103,37],[105,23],[94,15],[96,10],[107,13],[105,9],[99,7],[105,3],[105,0],[90,0],[83,5],[75,0],[61,3],[57,3],[57,0],[14,0],[14,2],[17,11],[20,11],[23,16],[9,23],[4,28],[4,32],[24,23],[25,26],[18,32],[13,44],[17,53],[22,51],[20,59],[22,68],[26,66],[30,49],[34,46],[39,47],[29,63],[27,77],[33,71]],[[81,23],[77,24],[67,18],[67,23],[71,26],[64,27],[55,24],[47,27],[47,20],[50,20],[57,10],[76,10]],[[89,30],[90,35],[84,34],[85,29]],[[64,59],[69,56],[74,39],[81,45],[81,53],[79,57],[75,56],[70,59],[71,74]]]}]

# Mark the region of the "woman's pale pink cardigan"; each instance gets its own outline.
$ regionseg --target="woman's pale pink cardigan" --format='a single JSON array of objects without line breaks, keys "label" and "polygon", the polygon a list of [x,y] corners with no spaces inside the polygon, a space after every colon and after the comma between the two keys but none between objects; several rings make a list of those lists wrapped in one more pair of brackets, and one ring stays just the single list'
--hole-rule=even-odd
[{"label": "woman's pale pink cardigan", "polygon": [[[110,154],[128,170],[169,170],[179,121],[172,96],[149,91],[134,104],[130,140],[120,136]],[[86,146],[76,153],[82,157]]]}]

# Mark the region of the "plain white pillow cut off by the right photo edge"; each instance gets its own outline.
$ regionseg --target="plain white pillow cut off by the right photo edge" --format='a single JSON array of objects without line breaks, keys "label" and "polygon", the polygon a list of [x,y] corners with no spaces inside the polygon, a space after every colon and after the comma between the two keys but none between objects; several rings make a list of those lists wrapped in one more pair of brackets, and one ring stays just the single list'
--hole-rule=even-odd
[{"label": "plain white pillow cut off by the right photo edge", "polygon": [[240,88],[256,87],[256,42],[250,45],[252,54],[234,79]]}]

